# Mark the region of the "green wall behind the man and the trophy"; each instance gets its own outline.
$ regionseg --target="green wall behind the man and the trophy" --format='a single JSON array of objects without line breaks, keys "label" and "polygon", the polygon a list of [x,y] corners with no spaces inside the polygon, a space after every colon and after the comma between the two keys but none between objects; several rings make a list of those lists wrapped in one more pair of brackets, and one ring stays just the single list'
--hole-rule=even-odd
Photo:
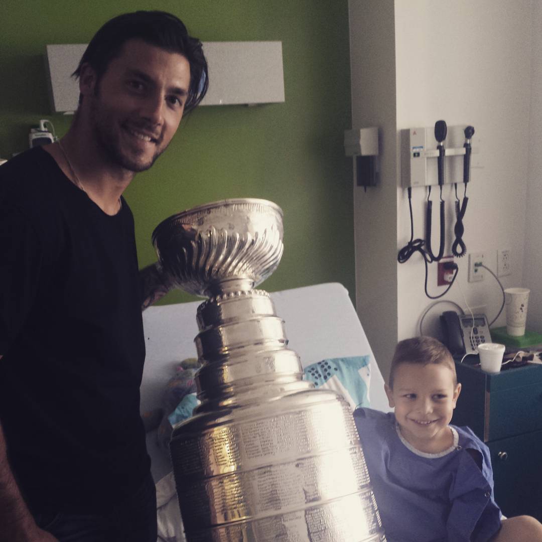
[{"label": "green wall behind the man and the trophy", "polygon": [[[354,295],[347,0],[4,0],[0,33],[0,157],[28,147],[30,126],[50,113],[43,53],[48,43],[86,43],[114,15],[162,9],[202,41],[282,41],[283,104],[206,106],[128,187],[140,266],[156,260],[151,234],[164,218],[230,197],[270,199],[284,211],[285,252],[268,291],[337,281]],[[212,85],[212,79],[210,81]],[[172,292],[165,302],[188,301]]]}]

